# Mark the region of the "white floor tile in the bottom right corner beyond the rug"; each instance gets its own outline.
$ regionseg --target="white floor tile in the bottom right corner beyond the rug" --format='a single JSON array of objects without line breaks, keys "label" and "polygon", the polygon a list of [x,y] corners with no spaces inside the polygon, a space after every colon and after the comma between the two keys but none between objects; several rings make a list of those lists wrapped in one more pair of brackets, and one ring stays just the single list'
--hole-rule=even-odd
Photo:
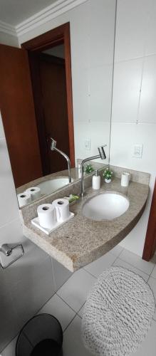
[{"label": "white floor tile in the bottom right corner beyond the rug", "polygon": [[156,323],[153,321],[152,328],[150,328],[145,340],[142,342],[138,350],[132,352],[130,356],[155,356],[156,355]]}]

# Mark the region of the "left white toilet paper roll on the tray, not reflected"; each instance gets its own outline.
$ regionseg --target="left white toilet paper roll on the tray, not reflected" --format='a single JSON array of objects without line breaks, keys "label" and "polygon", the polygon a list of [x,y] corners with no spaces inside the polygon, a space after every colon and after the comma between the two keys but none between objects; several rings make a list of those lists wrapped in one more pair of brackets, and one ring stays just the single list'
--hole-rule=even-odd
[{"label": "left white toilet paper roll on the tray, not reflected", "polygon": [[37,208],[39,224],[46,229],[52,229],[56,224],[56,212],[53,204],[41,204]]}]

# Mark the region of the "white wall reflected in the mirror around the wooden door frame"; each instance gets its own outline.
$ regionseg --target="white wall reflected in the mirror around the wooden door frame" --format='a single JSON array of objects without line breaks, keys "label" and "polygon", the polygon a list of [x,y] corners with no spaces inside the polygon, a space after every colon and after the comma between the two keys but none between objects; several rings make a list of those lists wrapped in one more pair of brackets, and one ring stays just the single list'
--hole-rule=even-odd
[{"label": "white wall reflected in the mirror around the wooden door frame", "polygon": [[[19,43],[70,21],[76,159],[110,140],[115,0],[88,0],[19,37]],[[85,140],[90,139],[90,150]]]}]

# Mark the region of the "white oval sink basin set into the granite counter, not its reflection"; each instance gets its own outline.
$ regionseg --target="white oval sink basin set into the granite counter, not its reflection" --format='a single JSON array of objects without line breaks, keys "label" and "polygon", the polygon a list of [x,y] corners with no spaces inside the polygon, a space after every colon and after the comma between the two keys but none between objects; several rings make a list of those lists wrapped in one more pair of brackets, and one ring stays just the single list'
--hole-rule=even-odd
[{"label": "white oval sink basin set into the granite counter, not its reflection", "polygon": [[105,192],[88,199],[83,205],[83,215],[93,220],[113,220],[128,210],[130,203],[123,195]]}]

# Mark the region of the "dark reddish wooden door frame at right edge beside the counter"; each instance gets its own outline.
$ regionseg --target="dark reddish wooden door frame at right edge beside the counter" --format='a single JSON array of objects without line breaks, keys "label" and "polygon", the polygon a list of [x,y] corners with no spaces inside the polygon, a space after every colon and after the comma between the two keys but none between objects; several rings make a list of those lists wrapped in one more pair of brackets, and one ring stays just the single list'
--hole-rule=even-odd
[{"label": "dark reddish wooden door frame at right edge beside the counter", "polygon": [[152,203],[150,207],[150,216],[148,219],[147,233],[145,237],[145,245],[142,254],[142,259],[150,261],[156,249],[156,180],[152,195]]}]

